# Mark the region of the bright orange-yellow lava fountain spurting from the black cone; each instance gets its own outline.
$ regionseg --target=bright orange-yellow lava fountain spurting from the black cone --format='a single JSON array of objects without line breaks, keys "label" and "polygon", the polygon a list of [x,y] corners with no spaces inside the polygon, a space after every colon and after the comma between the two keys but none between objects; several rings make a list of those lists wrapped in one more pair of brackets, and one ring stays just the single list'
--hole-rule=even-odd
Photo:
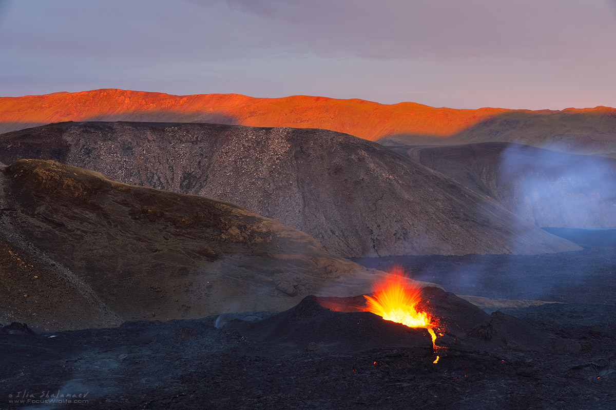
[{"label": "bright orange-yellow lava fountain spurting from the black cone", "polygon": [[368,305],[365,310],[410,328],[428,329],[434,345],[436,320],[428,313],[417,310],[421,287],[408,282],[402,268],[394,267],[385,280],[375,283],[373,290],[374,296],[363,295]]}]

